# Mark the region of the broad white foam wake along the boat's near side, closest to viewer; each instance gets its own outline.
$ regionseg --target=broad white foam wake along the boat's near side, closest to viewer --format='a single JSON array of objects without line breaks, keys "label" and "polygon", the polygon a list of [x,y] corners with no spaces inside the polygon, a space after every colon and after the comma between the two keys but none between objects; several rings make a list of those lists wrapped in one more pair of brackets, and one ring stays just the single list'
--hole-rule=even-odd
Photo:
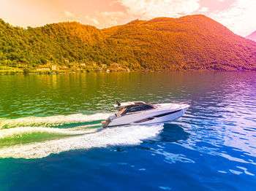
[{"label": "broad white foam wake along the boat's near side, closest to viewer", "polygon": [[[84,129],[84,134],[80,136],[2,147],[0,148],[0,157],[30,159],[47,157],[50,154],[57,154],[59,152],[74,149],[135,145],[140,144],[145,139],[152,139],[156,137],[162,129],[163,125],[138,125],[130,127],[105,128],[102,130]],[[67,133],[67,131],[65,132]]]}]

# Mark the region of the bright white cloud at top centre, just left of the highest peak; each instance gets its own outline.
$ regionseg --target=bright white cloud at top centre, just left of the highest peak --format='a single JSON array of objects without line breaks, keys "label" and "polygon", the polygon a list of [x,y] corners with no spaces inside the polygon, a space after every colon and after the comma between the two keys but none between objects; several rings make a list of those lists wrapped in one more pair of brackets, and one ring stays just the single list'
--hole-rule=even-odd
[{"label": "bright white cloud at top centre, just left of the highest peak", "polygon": [[200,0],[119,0],[127,14],[140,19],[180,17],[200,8]]}]

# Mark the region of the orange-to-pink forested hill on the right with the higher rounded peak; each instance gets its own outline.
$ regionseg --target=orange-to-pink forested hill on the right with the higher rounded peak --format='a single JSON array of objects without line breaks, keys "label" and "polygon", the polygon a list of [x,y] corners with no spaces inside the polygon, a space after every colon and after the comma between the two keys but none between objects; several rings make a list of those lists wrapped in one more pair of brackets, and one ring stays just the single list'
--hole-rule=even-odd
[{"label": "orange-to-pink forested hill on the right with the higher rounded peak", "polygon": [[121,46],[132,47],[144,68],[256,69],[256,43],[204,15],[135,20],[103,31]]}]

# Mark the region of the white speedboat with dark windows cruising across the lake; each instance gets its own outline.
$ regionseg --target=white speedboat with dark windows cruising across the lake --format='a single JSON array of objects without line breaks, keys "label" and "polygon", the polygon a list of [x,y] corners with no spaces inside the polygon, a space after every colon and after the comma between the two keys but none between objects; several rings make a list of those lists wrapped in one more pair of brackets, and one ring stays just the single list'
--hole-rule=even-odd
[{"label": "white speedboat with dark windows cruising across the lake", "polygon": [[143,101],[132,101],[111,104],[118,111],[110,115],[107,120],[102,121],[103,128],[130,126],[130,125],[155,125],[171,122],[181,117],[187,109],[188,104],[146,104]]}]

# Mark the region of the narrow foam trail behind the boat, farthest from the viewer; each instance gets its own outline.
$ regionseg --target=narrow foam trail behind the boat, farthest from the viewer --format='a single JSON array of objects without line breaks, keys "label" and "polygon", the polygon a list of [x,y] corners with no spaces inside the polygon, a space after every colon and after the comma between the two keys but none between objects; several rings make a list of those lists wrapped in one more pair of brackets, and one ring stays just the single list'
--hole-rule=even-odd
[{"label": "narrow foam trail behind the boat, farthest from the viewer", "polygon": [[22,117],[17,119],[0,119],[0,129],[2,128],[16,128],[28,126],[52,127],[64,124],[72,124],[77,122],[91,122],[97,120],[105,120],[110,114],[69,114],[57,115],[49,117]]}]

